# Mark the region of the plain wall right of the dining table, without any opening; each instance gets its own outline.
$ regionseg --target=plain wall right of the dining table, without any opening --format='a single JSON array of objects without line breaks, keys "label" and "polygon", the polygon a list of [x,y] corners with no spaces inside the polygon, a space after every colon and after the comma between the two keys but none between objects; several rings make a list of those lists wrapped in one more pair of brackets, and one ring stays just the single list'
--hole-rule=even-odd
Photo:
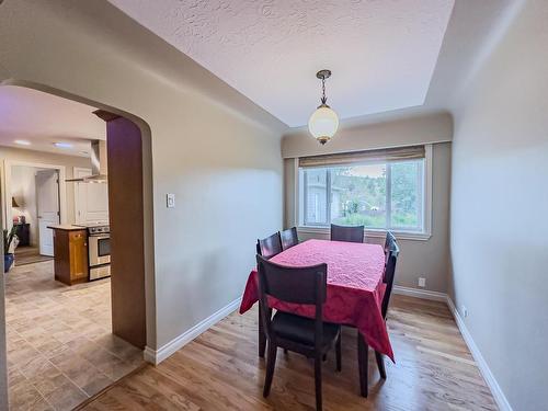
[{"label": "plain wall right of the dining table, without any opening", "polygon": [[450,293],[516,411],[548,403],[547,21],[525,2],[455,111]]}]

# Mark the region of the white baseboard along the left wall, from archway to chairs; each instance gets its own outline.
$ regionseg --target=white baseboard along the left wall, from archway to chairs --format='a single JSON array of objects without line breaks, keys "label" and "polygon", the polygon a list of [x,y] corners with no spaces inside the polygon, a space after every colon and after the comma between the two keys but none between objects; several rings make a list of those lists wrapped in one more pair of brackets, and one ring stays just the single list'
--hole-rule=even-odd
[{"label": "white baseboard along the left wall, from archway to chairs", "polygon": [[183,332],[181,335],[175,336],[173,340],[171,340],[169,343],[164,344],[158,350],[152,350],[148,346],[145,347],[145,353],[144,353],[145,361],[155,365],[160,364],[175,351],[182,349],[184,345],[189,344],[192,340],[202,334],[204,331],[207,331],[210,327],[215,326],[215,323],[222,320],[229,313],[236,311],[238,307],[240,307],[240,302],[241,302],[241,297],[235,299],[232,302],[222,307],[217,312],[214,312],[205,320],[202,320],[190,330]]}]

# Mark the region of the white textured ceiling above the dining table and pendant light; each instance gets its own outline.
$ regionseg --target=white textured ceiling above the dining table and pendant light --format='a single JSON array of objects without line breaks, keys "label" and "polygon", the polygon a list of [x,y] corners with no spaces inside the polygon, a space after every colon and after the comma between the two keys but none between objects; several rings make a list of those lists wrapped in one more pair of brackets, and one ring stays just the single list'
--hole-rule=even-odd
[{"label": "white textured ceiling above the dining table and pendant light", "polygon": [[424,103],[454,0],[110,0],[289,126]]}]

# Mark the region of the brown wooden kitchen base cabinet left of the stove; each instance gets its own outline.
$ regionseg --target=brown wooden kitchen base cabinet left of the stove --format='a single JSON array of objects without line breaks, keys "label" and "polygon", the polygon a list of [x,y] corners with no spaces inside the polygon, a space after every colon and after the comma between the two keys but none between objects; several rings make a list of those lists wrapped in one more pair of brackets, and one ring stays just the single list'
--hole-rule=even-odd
[{"label": "brown wooden kitchen base cabinet left of the stove", "polygon": [[54,230],[55,279],[67,285],[88,282],[88,231],[75,226]]}]

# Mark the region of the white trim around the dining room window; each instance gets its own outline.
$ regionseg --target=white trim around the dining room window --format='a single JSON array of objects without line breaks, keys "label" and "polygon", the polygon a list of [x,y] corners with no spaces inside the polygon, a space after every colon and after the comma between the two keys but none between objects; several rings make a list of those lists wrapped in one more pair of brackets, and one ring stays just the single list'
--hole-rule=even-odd
[{"label": "white trim around the dining room window", "polygon": [[[299,161],[294,159],[294,175],[295,175],[295,209],[294,209],[294,220],[297,221],[297,229],[302,233],[311,235],[329,235],[329,227],[309,227],[301,224],[301,198],[299,190]],[[391,230],[391,232],[401,240],[416,240],[416,241],[427,241],[432,237],[432,145],[424,146],[424,172],[425,172],[425,186],[424,186],[424,231],[423,232],[412,232],[412,231],[398,231]],[[386,236],[384,229],[367,229],[365,231],[366,237],[384,238]]]}]

